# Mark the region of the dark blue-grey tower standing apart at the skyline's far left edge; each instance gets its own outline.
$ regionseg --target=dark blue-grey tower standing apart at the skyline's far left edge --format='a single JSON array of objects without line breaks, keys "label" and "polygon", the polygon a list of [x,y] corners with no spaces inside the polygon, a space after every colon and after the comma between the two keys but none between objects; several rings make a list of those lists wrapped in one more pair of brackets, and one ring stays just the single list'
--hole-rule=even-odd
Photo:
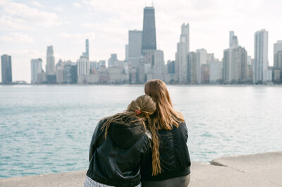
[{"label": "dark blue-grey tower standing apart at the skyline's far left edge", "polygon": [[1,56],[2,84],[12,83],[12,58],[8,55]]}]

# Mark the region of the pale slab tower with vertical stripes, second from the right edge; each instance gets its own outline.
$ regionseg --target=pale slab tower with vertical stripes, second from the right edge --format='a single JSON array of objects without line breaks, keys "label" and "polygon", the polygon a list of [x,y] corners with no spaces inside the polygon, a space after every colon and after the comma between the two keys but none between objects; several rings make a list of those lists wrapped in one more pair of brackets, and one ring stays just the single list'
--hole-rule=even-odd
[{"label": "pale slab tower with vertical stripes, second from the right edge", "polygon": [[255,84],[262,84],[268,81],[268,43],[269,32],[259,30],[255,32],[255,63],[254,79]]}]

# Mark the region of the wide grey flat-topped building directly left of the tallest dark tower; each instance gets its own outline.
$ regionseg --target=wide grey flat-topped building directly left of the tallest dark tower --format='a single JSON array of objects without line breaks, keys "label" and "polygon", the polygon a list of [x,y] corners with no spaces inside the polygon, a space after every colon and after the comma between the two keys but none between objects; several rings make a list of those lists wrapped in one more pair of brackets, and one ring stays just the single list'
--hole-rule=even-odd
[{"label": "wide grey flat-topped building directly left of the tallest dark tower", "polygon": [[137,68],[142,49],[142,31],[128,31],[128,61],[131,67]]}]

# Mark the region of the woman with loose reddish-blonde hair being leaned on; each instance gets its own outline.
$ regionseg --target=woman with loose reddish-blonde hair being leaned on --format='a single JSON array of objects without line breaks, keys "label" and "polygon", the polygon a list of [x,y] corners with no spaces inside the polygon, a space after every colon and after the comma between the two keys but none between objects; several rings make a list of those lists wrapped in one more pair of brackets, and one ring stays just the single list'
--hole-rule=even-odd
[{"label": "woman with loose reddish-blonde hair being leaned on", "polygon": [[188,151],[188,130],[182,113],[173,109],[166,84],[153,79],[145,84],[145,93],[156,103],[156,111],[151,117],[157,131],[157,150],[159,158],[157,175],[152,175],[153,160],[142,169],[142,186],[188,186],[190,182],[190,155]]}]

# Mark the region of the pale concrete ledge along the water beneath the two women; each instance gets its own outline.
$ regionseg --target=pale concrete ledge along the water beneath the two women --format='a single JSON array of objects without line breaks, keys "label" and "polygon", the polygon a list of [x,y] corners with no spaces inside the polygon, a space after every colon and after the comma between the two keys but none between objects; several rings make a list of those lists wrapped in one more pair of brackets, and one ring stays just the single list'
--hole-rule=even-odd
[{"label": "pale concrete ledge along the water beneath the two women", "polygon": [[[192,162],[189,186],[282,186],[282,151]],[[86,171],[1,178],[0,186],[83,186]]]}]

